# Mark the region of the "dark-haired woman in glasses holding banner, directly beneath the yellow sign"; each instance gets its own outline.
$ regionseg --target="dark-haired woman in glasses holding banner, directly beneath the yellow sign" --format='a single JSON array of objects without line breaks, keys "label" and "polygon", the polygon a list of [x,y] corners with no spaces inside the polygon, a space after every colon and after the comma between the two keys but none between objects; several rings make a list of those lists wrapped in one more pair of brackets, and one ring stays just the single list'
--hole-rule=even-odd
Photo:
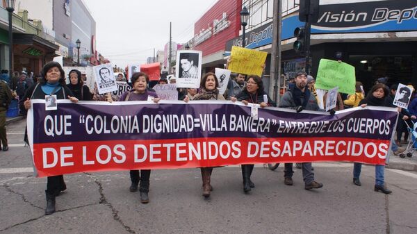
[{"label": "dark-haired woman in glasses holding banner, directly beneath the yellow sign", "polygon": [[[231,97],[231,101],[242,101],[245,105],[247,103],[255,103],[259,104],[261,108],[277,106],[268,94],[263,91],[262,79],[256,75],[248,76],[245,90],[240,92],[236,97]],[[242,165],[243,191],[245,193],[249,192],[252,187],[255,187],[254,183],[250,180],[253,169],[253,164]]]}]

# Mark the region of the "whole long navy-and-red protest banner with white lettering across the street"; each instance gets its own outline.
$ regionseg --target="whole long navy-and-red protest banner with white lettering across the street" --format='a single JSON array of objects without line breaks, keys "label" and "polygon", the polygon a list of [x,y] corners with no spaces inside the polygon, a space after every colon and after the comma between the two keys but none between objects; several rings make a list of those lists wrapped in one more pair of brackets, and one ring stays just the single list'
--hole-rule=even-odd
[{"label": "whole long navy-and-red protest banner with white lettering across the street", "polygon": [[[265,162],[350,161],[384,165],[396,108],[326,112],[231,101],[32,100],[28,140],[36,176]],[[106,110],[106,111],[103,111]]]}]

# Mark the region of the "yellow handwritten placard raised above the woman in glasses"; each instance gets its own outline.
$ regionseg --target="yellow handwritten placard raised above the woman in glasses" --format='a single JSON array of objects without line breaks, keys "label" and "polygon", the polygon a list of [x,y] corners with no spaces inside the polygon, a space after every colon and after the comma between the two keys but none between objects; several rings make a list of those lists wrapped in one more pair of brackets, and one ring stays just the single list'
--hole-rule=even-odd
[{"label": "yellow handwritten placard raised above the woman in glasses", "polygon": [[228,69],[240,74],[261,76],[268,53],[243,47],[231,47],[231,61]]}]

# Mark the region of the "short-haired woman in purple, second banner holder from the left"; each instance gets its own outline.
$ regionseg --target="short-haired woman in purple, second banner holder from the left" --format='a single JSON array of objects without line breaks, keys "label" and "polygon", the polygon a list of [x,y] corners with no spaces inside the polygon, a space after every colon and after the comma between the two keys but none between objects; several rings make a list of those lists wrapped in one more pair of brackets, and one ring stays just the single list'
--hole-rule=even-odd
[{"label": "short-haired woman in purple, second banner holder from the left", "polygon": [[[156,92],[148,91],[147,84],[149,83],[149,77],[146,73],[136,72],[132,74],[131,81],[133,88],[130,91],[124,92],[120,97],[119,101],[147,101],[148,97],[152,97],[154,103],[158,103],[160,100]],[[138,191],[140,192],[140,202],[148,203],[149,202],[149,177],[151,176],[151,170],[131,170],[131,186],[129,188],[130,192]]]}]

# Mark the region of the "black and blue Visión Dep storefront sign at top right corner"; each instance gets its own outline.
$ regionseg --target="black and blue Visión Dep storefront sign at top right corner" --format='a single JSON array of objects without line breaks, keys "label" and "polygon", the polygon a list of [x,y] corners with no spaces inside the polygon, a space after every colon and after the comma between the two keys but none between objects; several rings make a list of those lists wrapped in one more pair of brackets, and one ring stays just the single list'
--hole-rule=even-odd
[{"label": "black and blue Visi\u00f3n Dep storefront sign at top right corner", "polygon": [[311,33],[417,30],[417,1],[366,1],[320,5]]}]

